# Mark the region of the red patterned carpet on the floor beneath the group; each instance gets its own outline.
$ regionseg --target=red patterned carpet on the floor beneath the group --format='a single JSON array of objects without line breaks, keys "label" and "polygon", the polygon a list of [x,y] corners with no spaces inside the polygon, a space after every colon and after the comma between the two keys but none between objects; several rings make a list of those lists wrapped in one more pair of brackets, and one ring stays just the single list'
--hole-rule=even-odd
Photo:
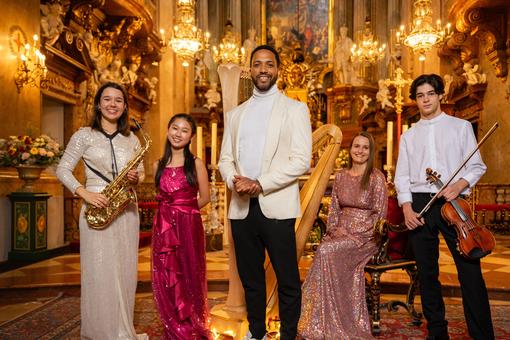
[{"label": "red patterned carpet on the floor beneath the group", "polygon": [[[0,326],[0,339],[79,339],[80,299],[62,295],[44,306]],[[419,307],[418,307],[419,309]],[[461,305],[447,305],[449,332],[452,340],[470,339]],[[496,339],[510,339],[510,306],[493,306],[492,318]],[[409,324],[404,312],[382,311],[382,332],[378,339],[424,339],[425,325]],[[138,333],[147,333],[159,339],[162,326],[151,296],[139,297],[135,307],[135,327]]]}]

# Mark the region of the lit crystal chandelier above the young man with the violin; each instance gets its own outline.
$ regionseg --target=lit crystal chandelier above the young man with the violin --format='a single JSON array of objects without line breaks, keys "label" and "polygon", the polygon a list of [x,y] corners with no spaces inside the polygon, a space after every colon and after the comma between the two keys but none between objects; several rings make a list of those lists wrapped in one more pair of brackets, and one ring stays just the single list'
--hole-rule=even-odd
[{"label": "lit crystal chandelier above the young man with the violin", "polygon": [[442,27],[441,20],[437,20],[434,27],[432,23],[432,0],[415,0],[413,12],[413,24],[411,32],[406,34],[404,25],[397,32],[397,42],[404,43],[415,53],[419,54],[419,60],[425,60],[425,53],[430,51],[448,38],[451,34],[450,23]]}]

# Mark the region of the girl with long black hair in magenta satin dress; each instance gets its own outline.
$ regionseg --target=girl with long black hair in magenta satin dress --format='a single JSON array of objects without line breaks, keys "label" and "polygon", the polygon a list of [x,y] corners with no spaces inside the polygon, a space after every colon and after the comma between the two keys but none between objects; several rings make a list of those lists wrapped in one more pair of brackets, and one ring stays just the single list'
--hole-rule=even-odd
[{"label": "girl with long black hair in magenta satin dress", "polygon": [[204,162],[189,150],[195,131],[190,115],[173,116],[163,157],[155,164],[159,206],[152,229],[152,289],[169,340],[210,339],[199,210],[209,202],[209,182]]}]

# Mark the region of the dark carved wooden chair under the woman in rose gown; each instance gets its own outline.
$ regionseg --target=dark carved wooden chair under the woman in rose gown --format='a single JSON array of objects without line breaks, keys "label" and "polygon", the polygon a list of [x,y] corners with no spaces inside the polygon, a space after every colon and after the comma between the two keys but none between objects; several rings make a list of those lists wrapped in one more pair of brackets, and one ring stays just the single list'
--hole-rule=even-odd
[{"label": "dark carved wooden chair under the woman in rose gown", "polygon": [[[400,225],[402,221],[402,211],[398,207],[396,198],[389,197],[387,219],[378,221],[374,226],[374,235],[378,245],[377,253],[365,266],[365,273],[368,276],[366,298],[374,335],[381,333],[379,324],[381,308],[386,307],[388,311],[396,311],[398,306],[402,306],[412,318],[413,325],[419,326],[422,323],[422,314],[414,308],[414,297],[418,289],[418,269],[416,262],[406,257],[407,228]],[[381,275],[393,269],[405,270],[409,275],[407,298],[405,302],[392,300],[381,305]]]}]

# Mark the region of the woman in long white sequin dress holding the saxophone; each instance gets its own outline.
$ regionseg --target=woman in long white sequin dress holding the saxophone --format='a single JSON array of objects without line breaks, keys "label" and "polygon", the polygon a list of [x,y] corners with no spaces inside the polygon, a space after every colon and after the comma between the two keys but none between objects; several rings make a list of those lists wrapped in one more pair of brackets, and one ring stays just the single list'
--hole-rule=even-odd
[{"label": "woman in long white sequin dress holding the saxophone", "polygon": [[[80,213],[81,338],[94,340],[146,339],[133,325],[138,267],[139,218],[130,204],[106,229],[95,230],[84,217],[86,204],[106,207],[101,190],[140,148],[130,131],[127,93],[116,83],[105,83],[94,98],[90,127],[75,132],[62,157],[57,177],[85,204]],[[85,163],[85,185],[73,175]],[[144,178],[143,165],[132,169],[132,185]]]}]

